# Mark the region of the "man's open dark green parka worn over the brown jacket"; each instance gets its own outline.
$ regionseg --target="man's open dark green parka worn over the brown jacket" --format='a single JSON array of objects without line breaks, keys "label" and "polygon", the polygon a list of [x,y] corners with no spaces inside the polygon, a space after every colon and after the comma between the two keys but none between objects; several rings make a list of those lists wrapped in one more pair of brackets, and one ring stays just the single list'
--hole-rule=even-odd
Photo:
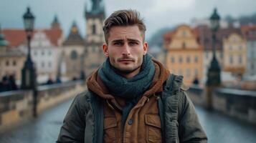
[{"label": "man's open dark green parka worn over the brown jacket", "polygon": [[[194,105],[186,95],[181,76],[170,74],[158,96],[163,142],[207,142]],[[87,90],[75,97],[57,142],[103,142],[103,100]]]}]

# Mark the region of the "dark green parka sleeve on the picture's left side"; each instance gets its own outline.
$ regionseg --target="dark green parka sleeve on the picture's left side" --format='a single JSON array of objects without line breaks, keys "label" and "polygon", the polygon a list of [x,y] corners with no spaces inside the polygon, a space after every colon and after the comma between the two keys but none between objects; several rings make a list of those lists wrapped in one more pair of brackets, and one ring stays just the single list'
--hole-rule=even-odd
[{"label": "dark green parka sleeve on the picture's left side", "polygon": [[84,142],[87,113],[85,105],[85,94],[78,94],[63,121],[57,142]]}]

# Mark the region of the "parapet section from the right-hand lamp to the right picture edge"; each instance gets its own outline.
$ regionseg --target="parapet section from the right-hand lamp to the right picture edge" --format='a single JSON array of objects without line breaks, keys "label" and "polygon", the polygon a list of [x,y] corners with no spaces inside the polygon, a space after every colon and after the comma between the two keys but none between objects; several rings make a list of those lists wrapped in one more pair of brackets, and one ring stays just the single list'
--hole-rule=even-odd
[{"label": "parapet section from the right-hand lamp to the right picture edge", "polygon": [[214,109],[256,124],[256,92],[216,89],[213,97]]}]

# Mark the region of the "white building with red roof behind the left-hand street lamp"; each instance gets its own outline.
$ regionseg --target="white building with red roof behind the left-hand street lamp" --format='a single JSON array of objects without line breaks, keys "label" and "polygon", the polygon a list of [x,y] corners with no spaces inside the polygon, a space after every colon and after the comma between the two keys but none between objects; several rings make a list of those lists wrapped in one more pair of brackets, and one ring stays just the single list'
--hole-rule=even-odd
[{"label": "white building with red roof behind the left-hand street lamp", "polygon": [[[27,34],[23,29],[4,29],[10,49],[27,53]],[[35,29],[31,39],[32,61],[37,68],[37,82],[46,82],[48,77],[57,77],[63,36],[57,16],[49,29]]]}]

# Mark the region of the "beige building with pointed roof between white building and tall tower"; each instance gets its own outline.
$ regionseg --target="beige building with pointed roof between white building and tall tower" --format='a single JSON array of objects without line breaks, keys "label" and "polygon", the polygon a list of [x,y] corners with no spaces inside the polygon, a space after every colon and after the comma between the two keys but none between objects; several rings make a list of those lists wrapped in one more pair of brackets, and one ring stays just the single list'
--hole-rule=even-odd
[{"label": "beige building with pointed roof between white building and tall tower", "polygon": [[85,40],[82,39],[77,24],[73,22],[70,34],[63,42],[61,74],[65,79],[79,79],[83,54],[85,53]]}]

